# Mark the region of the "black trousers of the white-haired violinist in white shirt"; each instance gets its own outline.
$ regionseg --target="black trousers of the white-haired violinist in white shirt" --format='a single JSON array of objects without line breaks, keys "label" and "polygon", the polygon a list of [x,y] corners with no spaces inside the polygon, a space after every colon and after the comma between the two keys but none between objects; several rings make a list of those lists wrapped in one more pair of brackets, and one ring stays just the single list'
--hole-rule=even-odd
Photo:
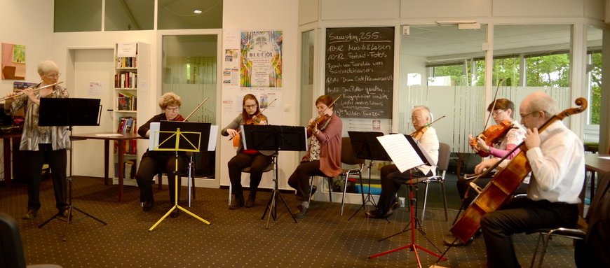
[{"label": "black trousers of the white-haired violinist in white shirt", "polygon": [[[412,174],[409,174],[412,172]],[[381,167],[381,194],[379,194],[379,202],[377,209],[381,215],[385,215],[390,206],[396,202],[396,193],[400,190],[400,185],[409,180],[409,178],[426,177],[419,169],[407,170],[404,173],[398,170],[395,164],[386,164]]]}]

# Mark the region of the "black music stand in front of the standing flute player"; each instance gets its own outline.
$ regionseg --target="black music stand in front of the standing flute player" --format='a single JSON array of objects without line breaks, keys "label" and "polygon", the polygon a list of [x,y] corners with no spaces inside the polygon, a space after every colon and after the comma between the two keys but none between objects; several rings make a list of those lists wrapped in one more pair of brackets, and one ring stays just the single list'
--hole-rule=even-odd
[{"label": "black music stand in front of the standing flute player", "polygon": [[[40,109],[39,109],[39,126],[58,126],[58,127],[67,127],[70,132],[70,169],[69,176],[67,176],[67,181],[69,184],[68,188],[68,216],[65,220],[66,228],[64,232],[63,241],[66,241],[68,235],[68,225],[72,223],[72,210],[75,209],[85,214],[86,216],[97,220],[103,225],[107,225],[103,220],[95,218],[91,216],[91,214],[82,211],[76,206],[72,205],[72,152],[74,152],[72,147],[72,127],[74,126],[99,126],[100,125],[100,111],[102,111],[102,106],[100,105],[100,99],[79,99],[79,98],[41,98],[40,99]],[[39,228],[42,228],[44,225],[49,223],[53,219],[63,220],[57,218],[62,216],[63,211],[58,212],[55,216],[49,218],[41,225],[38,225]]]}]

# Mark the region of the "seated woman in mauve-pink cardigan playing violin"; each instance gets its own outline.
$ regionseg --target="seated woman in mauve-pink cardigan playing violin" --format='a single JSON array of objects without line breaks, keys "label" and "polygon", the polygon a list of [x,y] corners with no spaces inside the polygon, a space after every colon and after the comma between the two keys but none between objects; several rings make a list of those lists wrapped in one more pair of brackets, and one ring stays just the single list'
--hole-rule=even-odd
[{"label": "seated woman in mauve-pink cardigan playing violin", "polygon": [[[309,176],[336,177],[341,174],[341,132],[343,121],[334,114],[333,99],[323,95],[316,99],[318,118],[309,120],[307,136],[309,150],[301,159],[301,164],[288,178],[288,185],[297,190],[301,201],[295,218],[304,218],[309,209]],[[327,117],[326,120],[319,118]],[[319,122],[318,122],[319,121]],[[317,122],[317,123],[316,123]],[[313,186],[313,192],[316,186]]]}]

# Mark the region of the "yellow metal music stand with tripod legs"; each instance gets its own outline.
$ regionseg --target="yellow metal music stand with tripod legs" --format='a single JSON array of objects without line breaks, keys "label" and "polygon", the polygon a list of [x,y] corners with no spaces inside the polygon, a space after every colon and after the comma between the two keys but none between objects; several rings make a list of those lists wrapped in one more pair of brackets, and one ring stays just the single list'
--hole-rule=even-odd
[{"label": "yellow metal music stand with tripod legs", "polygon": [[[195,213],[192,213],[191,211],[188,211],[187,209],[184,209],[182,206],[180,206],[178,204],[178,152],[182,151],[182,152],[199,152],[199,145],[201,143],[201,132],[181,132],[180,128],[178,127],[176,129],[175,132],[167,132],[167,131],[160,131],[159,133],[166,133],[166,134],[170,134],[170,136],[163,140],[161,143],[158,143],[157,146],[155,146],[154,150],[160,150],[160,151],[175,151],[176,152],[176,172],[175,172],[175,176],[174,176],[174,195],[175,195],[175,200],[176,200],[176,204],[174,206],[172,206],[170,208],[170,210],[165,213],[165,215],[163,215],[163,217],[161,217],[161,219],[159,219],[152,227],[150,227],[150,229],[148,230],[149,232],[151,232],[152,230],[154,230],[155,227],[157,227],[157,225],[159,225],[159,223],[161,223],[163,220],[165,220],[165,218],[167,218],[168,216],[170,216],[170,213],[172,213],[172,211],[174,211],[174,209],[179,209],[181,211],[186,212],[187,214],[189,214],[190,216],[193,216],[194,218],[201,220],[203,223],[210,225],[210,222],[208,222],[207,220],[204,220],[203,218],[195,215]],[[190,134],[190,135],[196,135],[197,137],[197,145],[193,144],[191,141],[189,141],[189,139],[187,139],[187,136],[184,136],[184,134]],[[184,148],[184,146],[180,147],[180,140],[184,139],[185,141],[187,141],[187,146],[188,148]],[[156,135],[154,135],[154,138],[156,139]],[[162,146],[165,142],[170,143],[170,140],[175,139],[175,146],[174,148],[159,148],[160,146]],[[183,143],[184,144],[184,143]]]}]

